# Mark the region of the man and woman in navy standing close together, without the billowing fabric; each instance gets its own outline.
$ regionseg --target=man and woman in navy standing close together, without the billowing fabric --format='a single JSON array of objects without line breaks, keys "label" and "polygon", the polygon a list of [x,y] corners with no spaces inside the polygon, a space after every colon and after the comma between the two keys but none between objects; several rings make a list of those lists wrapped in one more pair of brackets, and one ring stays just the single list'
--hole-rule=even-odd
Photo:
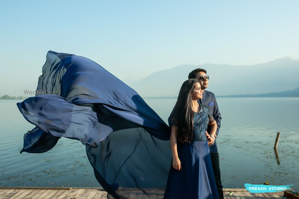
[{"label": "man and woman in navy standing close together, without the billowing fabric", "polygon": [[215,95],[205,91],[209,83],[206,73],[201,68],[189,73],[168,118],[173,160],[164,199],[223,198],[215,141],[221,115]]}]

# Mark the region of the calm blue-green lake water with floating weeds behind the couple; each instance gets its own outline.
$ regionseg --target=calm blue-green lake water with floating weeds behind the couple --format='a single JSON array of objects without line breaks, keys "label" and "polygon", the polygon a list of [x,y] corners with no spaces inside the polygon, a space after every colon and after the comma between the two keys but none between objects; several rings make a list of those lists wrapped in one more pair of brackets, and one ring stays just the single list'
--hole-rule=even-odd
[{"label": "calm blue-green lake water with floating weeds behind the couple", "polygon": [[[85,146],[61,138],[42,154],[22,153],[23,135],[33,129],[19,100],[0,100],[0,186],[100,187]],[[176,99],[145,99],[166,122]],[[224,188],[244,183],[292,185],[299,189],[299,98],[217,98],[222,125],[217,138]],[[274,153],[277,147],[280,164]]]}]

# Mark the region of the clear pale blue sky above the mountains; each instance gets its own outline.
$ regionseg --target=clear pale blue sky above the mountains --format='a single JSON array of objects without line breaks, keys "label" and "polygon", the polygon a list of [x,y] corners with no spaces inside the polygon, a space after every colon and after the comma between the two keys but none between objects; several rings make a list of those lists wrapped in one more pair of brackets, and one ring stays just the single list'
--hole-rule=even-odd
[{"label": "clear pale blue sky above the mountains", "polygon": [[299,1],[0,1],[1,94],[37,82],[48,50],[120,79],[181,64],[299,60]]}]

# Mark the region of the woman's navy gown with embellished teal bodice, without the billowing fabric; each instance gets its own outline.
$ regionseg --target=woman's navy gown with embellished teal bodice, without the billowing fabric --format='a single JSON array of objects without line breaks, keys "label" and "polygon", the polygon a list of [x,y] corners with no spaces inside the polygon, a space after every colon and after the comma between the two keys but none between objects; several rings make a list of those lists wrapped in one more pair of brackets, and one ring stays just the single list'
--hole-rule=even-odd
[{"label": "woman's navy gown with embellished teal bodice, without the billowing fabric", "polygon": [[[219,198],[205,135],[209,122],[214,121],[214,118],[207,107],[200,106],[199,113],[194,112],[192,141],[177,141],[181,169],[174,169],[171,161],[164,199]],[[170,126],[177,125],[176,113],[170,116],[169,121]]]}]

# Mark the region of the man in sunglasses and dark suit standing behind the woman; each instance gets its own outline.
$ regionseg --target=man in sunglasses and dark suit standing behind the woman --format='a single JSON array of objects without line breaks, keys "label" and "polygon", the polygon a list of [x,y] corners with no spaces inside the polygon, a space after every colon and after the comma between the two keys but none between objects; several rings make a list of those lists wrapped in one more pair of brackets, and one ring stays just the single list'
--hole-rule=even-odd
[{"label": "man in sunglasses and dark suit standing behind the woman", "polygon": [[[217,131],[216,135],[213,138],[213,143],[210,145],[210,153],[213,165],[213,171],[215,175],[216,185],[218,189],[219,198],[222,199],[223,197],[223,189],[220,177],[220,166],[219,166],[219,153],[216,144],[216,138],[219,133],[220,125],[221,125],[221,115],[218,109],[218,104],[216,102],[216,98],[213,92],[205,90],[208,88],[209,85],[209,76],[207,76],[207,71],[202,68],[195,69],[191,71],[188,75],[188,79],[198,79],[201,89],[204,91],[202,94],[202,100],[199,100],[199,104],[203,104],[209,107],[210,112],[213,114],[213,117],[217,123]],[[209,129],[207,130],[209,132]]]}]

